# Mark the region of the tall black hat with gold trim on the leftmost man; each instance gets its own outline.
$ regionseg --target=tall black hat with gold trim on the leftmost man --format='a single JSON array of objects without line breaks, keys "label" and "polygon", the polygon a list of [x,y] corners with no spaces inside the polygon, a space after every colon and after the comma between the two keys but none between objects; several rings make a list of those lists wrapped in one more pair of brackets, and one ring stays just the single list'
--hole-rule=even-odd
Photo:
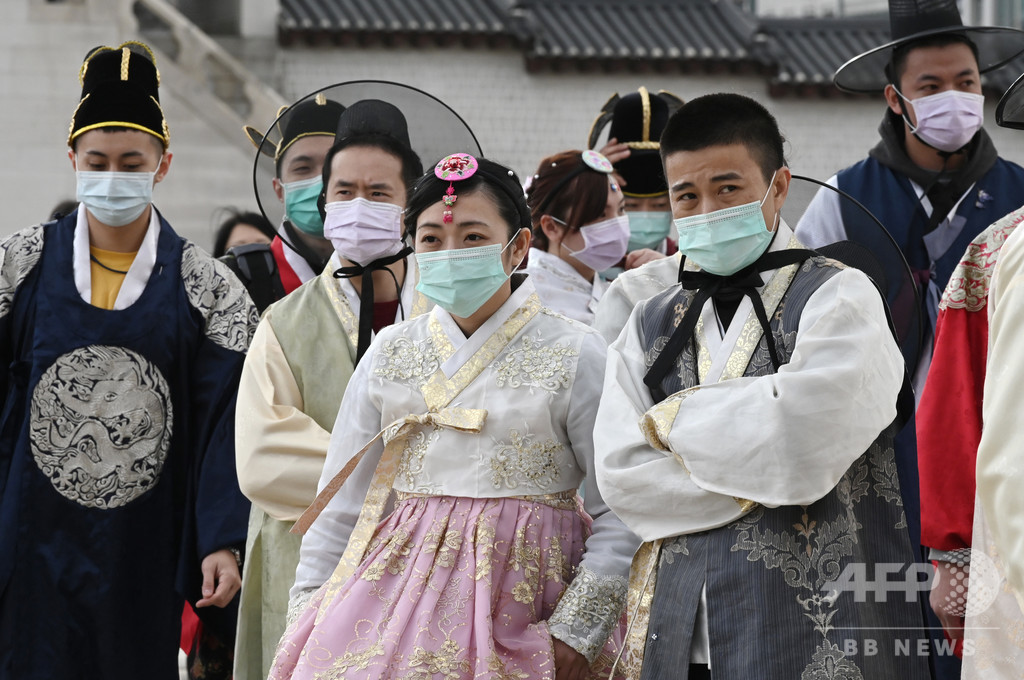
[{"label": "tall black hat with gold trim on the leftmost man", "polygon": [[82,96],[71,118],[68,145],[80,135],[103,127],[148,132],[171,141],[160,107],[160,72],[153,50],[137,41],[89,50],[78,72]]}]

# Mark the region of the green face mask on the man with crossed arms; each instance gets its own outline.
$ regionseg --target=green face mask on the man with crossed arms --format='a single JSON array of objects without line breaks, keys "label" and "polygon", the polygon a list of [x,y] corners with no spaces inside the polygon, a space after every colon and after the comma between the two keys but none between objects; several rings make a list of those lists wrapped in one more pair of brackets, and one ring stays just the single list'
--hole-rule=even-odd
[{"label": "green face mask on the man with crossed arms", "polygon": [[761,206],[774,181],[772,174],[768,192],[760,201],[673,220],[679,233],[679,252],[705,271],[721,277],[753,264],[771,243],[772,232]]}]

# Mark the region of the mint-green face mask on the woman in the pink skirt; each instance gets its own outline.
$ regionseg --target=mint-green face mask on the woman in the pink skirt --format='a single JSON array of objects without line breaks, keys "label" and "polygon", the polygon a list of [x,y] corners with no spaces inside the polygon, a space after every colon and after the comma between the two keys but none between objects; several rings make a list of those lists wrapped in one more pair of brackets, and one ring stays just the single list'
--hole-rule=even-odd
[{"label": "mint-green face mask on the woman in the pink skirt", "polygon": [[420,283],[416,290],[453,316],[468,318],[512,275],[505,273],[502,254],[514,241],[512,237],[505,248],[494,244],[417,253]]}]

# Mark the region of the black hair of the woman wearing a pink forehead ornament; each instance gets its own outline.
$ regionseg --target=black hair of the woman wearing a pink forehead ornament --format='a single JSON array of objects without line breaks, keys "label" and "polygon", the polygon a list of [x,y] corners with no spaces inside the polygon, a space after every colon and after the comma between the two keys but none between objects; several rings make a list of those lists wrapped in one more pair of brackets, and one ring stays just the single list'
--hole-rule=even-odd
[{"label": "black hair of the woman wearing a pink forehead ornament", "polygon": [[[500,163],[488,161],[485,158],[477,158],[476,161],[478,163],[476,172],[467,179],[455,182],[457,195],[482,192],[494,201],[498,206],[498,214],[509,226],[508,236],[510,239],[518,233],[519,229],[528,229],[530,227],[529,208],[526,206],[526,197],[523,196],[519,177]],[[406,204],[406,232],[408,235],[416,235],[416,220],[419,219],[424,210],[441,202],[441,198],[451,183],[446,179],[438,179],[434,175],[433,168],[420,177]]]}]

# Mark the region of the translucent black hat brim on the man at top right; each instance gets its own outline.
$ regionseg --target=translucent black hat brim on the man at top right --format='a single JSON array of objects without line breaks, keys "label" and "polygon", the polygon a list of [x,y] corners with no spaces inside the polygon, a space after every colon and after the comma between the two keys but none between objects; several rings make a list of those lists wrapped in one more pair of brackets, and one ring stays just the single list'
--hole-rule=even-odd
[{"label": "translucent black hat brim on the man at top right", "polygon": [[1017,29],[975,26],[933,29],[893,40],[858,54],[836,71],[833,82],[844,92],[859,94],[881,92],[888,84],[885,70],[894,49],[924,38],[945,34],[965,36],[978,46],[980,73],[998,69],[1024,52],[1024,31]]}]

